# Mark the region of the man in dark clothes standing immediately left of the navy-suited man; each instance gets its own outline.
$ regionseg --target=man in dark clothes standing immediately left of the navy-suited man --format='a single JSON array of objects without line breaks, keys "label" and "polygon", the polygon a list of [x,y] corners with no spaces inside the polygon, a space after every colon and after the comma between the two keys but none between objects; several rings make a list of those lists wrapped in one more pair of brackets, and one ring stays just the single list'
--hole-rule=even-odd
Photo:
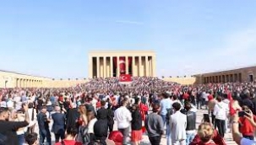
[{"label": "man in dark clothes standing immediately left of the navy-suited man", "polygon": [[41,112],[37,115],[40,143],[44,144],[45,138],[48,144],[51,144],[51,133],[49,130],[49,119],[46,115],[47,108],[46,106],[41,106]]}]

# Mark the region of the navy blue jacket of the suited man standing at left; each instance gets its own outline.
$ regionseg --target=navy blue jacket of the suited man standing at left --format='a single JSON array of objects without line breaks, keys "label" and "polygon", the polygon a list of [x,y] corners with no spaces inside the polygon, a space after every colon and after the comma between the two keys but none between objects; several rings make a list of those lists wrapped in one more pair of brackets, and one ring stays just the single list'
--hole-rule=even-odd
[{"label": "navy blue jacket of the suited man standing at left", "polygon": [[53,125],[52,132],[55,134],[65,132],[65,115],[62,113],[55,113],[52,115]]}]

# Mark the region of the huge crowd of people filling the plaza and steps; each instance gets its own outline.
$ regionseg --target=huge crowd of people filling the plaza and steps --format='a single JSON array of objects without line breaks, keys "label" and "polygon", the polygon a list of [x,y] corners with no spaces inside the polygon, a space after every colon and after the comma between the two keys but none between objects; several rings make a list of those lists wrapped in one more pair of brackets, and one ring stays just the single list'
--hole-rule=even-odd
[{"label": "huge crowd of people filling the plaza and steps", "polygon": [[[254,142],[256,83],[181,85],[94,78],[66,89],[0,89],[0,145],[225,145]],[[197,128],[196,113],[208,110]],[[114,124],[117,124],[117,129]],[[51,133],[52,132],[52,133]],[[242,136],[241,136],[242,135]],[[39,138],[39,139],[38,139]]]}]

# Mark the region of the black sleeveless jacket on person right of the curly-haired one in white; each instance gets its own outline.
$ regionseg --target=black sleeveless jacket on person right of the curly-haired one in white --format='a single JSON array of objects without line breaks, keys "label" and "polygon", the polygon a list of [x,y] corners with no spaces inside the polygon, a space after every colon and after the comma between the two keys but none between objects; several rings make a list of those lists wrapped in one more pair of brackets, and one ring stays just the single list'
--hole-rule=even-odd
[{"label": "black sleeveless jacket on person right of the curly-haired one in white", "polygon": [[186,131],[193,131],[196,129],[196,114],[191,110],[183,109],[181,111],[184,115],[187,115],[187,127]]}]

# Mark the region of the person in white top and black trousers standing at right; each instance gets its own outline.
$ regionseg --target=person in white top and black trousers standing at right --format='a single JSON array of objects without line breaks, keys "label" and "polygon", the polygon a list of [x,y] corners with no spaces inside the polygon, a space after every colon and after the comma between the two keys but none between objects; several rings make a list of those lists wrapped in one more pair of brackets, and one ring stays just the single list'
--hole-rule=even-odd
[{"label": "person in white top and black trousers standing at right", "polygon": [[226,112],[228,106],[222,101],[222,97],[217,97],[217,103],[215,104],[215,109],[213,115],[215,115],[215,125],[218,128],[219,134],[221,137],[225,136],[226,132]]}]

